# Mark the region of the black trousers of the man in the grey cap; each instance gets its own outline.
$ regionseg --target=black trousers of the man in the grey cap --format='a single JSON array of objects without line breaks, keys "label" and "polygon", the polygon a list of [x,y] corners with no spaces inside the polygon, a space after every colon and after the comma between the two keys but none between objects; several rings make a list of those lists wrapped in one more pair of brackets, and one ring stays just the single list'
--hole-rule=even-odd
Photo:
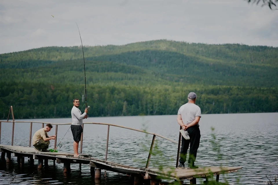
[{"label": "black trousers of the man in the grey cap", "polygon": [[187,132],[189,133],[190,140],[185,140],[184,137],[182,137],[182,147],[180,149],[180,163],[184,164],[184,162],[186,162],[187,150],[190,144],[188,164],[194,165],[197,156],[197,150],[200,144],[200,129],[198,125],[194,125],[193,127],[189,127],[187,129]]}]

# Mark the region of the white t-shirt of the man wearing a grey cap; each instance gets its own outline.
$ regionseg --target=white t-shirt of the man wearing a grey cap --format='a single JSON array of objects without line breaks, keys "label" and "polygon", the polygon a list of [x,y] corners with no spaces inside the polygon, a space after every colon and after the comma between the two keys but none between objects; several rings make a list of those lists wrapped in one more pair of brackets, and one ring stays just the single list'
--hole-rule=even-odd
[{"label": "white t-shirt of the man wearing a grey cap", "polygon": [[[198,105],[194,103],[186,103],[180,107],[178,110],[178,115],[182,116],[183,124],[189,124],[195,120],[196,116],[202,117],[201,109]],[[199,126],[199,123],[197,123]]]}]

